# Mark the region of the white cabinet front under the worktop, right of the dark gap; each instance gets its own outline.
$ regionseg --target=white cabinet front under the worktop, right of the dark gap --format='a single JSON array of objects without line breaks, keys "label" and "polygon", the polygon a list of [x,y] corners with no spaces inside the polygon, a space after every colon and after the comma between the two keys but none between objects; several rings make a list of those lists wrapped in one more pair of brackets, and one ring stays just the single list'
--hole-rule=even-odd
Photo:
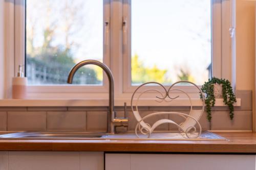
[{"label": "white cabinet front under the worktop, right of the dark gap", "polygon": [[105,154],[106,170],[255,170],[255,155]]}]

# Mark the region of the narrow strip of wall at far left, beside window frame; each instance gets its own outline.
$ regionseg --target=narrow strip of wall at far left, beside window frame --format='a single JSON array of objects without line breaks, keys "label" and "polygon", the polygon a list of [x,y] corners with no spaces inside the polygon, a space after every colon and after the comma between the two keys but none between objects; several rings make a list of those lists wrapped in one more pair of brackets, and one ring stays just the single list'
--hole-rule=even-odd
[{"label": "narrow strip of wall at far left, beside window frame", "polygon": [[4,0],[0,0],[0,99],[4,98]]}]

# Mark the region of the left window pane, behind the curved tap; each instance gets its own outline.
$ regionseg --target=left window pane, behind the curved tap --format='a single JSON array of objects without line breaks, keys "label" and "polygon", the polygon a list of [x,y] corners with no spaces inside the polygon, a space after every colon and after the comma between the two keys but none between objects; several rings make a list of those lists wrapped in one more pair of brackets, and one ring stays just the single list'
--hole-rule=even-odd
[{"label": "left window pane, behind the curved tap", "polygon": [[[67,84],[70,69],[103,60],[102,0],[27,0],[26,57],[30,85]],[[102,70],[80,68],[75,84],[102,84]]]}]

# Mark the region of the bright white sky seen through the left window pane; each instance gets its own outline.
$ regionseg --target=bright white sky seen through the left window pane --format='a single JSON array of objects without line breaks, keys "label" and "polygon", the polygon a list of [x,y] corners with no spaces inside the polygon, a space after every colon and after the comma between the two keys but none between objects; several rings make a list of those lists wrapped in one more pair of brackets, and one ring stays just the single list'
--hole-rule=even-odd
[{"label": "bright white sky seen through the left window pane", "polygon": [[[66,11],[67,5],[73,11]],[[48,10],[50,8],[50,11]],[[75,13],[73,20],[70,13]],[[49,14],[49,16],[47,15]],[[67,15],[66,15],[67,14]],[[27,0],[27,25],[35,23],[34,46],[41,46],[42,31],[50,25],[55,27],[52,45],[65,45],[66,16],[72,23],[69,41],[74,42],[72,52],[78,61],[100,59],[103,56],[103,1],[102,0]],[[31,21],[32,20],[32,21]],[[28,31],[27,31],[28,32]]]}]

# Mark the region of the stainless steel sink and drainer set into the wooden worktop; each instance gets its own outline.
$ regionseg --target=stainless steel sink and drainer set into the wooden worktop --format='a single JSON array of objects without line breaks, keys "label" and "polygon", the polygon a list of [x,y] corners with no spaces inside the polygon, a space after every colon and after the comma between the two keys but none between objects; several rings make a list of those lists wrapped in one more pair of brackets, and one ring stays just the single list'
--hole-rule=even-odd
[{"label": "stainless steel sink and drainer set into the wooden worktop", "polygon": [[131,133],[105,134],[90,132],[17,132],[0,135],[0,139],[47,139],[47,140],[226,140],[225,138],[205,131],[199,138],[186,138],[178,132],[153,133],[151,138],[140,135],[140,138]]}]

